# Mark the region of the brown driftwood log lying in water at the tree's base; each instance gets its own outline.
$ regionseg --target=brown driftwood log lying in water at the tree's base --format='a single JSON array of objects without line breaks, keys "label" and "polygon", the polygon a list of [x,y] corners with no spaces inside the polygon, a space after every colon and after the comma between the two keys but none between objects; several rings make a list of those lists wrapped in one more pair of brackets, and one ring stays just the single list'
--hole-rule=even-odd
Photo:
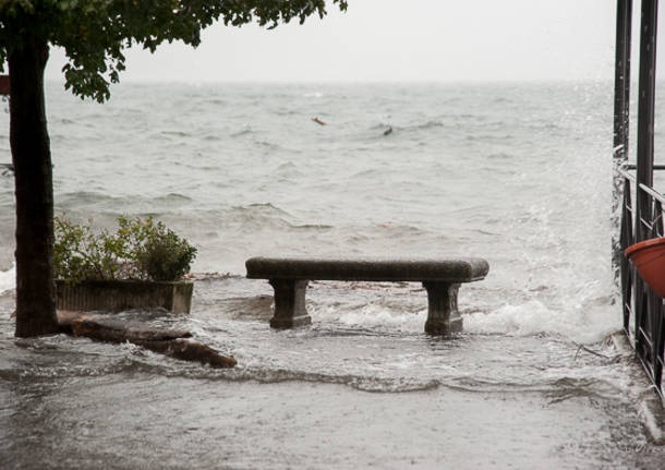
[{"label": "brown driftwood log lying in water at the tree's base", "polygon": [[188,341],[192,334],[184,329],[150,328],[140,323],[101,318],[82,312],[58,311],[58,323],[63,333],[105,342],[131,342],[154,352],[184,361],[197,361],[211,367],[233,367],[233,357],[221,355],[213,348]]}]

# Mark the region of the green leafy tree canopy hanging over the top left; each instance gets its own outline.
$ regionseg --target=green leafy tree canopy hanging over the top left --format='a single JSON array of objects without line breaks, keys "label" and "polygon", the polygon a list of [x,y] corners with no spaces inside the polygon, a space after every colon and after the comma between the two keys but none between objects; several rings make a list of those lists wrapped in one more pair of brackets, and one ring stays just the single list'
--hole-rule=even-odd
[{"label": "green leafy tree canopy hanging over the top left", "polygon": [[[347,0],[331,1],[347,9]],[[65,87],[101,103],[132,45],[153,52],[164,41],[197,46],[201,31],[218,20],[273,28],[312,14],[323,17],[326,0],[0,0],[0,71],[26,33],[35,34],[64,49]]]}]

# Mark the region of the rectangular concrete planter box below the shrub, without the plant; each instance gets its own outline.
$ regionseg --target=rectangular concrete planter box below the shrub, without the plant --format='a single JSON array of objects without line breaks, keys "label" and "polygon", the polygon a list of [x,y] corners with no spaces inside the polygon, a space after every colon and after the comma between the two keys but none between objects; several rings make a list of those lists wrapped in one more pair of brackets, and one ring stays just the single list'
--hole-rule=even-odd
[{"label": "rectangular concrete planter box below the shrub, without the plant", "polygon": [[76,285],[57,280],[60,310],[128,310],[164,308],[190,313],[194,285],[188,281],[85,280]]}]

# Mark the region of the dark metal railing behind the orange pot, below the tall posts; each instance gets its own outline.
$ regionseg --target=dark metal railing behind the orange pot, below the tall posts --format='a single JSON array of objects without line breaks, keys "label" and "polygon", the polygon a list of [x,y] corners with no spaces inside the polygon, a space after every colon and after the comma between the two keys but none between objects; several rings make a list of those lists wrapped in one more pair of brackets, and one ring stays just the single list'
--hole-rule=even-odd
[{"label": "dark metal railing behind the orange pot, below the tall posts", "polygon": [[[619,169],[624,179],[624,203],[621,207],[620,249],[624,252],[638,240],[663,237],[663,206],[665,196],[645,184],[637,184],[637,178],[629,171],[634,165]],[[654,170],[665,170],[665,165],[654,165]],[[637,220],[633,201],[645,197],[649,212]],[[665,276],[665,273],[663,274]],[[665,344],[665,309],[663,298],[653,292],[626,256],[620,261],[621,304],[624,330],[634,347],[649,378],[653,382],[661,400],[663,393],[663,347]]]}]

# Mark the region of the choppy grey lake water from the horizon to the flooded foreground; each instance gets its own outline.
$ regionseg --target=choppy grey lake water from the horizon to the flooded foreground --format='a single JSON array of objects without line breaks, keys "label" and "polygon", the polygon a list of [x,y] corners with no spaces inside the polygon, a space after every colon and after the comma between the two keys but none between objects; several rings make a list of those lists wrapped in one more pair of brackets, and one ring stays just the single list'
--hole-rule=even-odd
[{"label": "choppy grey lake water from the horizon to the flooded foreground", "polygon": [[[100,106],[49,84],[58,212],[155,215],[198,248],[195,272],[229,274],[195,281],[190,316],[121,315],[186,327],[239,365],[15,339],[0,176],[3,468],[661,468],[650,391],[607,340],[612,92],[125,84]],[[271,288],[243,277],[262,254],[481,256],[491,272],[460,289],[454,340],[423,333],[418,284],[312,282],[313,325],[275,332]]]}]

